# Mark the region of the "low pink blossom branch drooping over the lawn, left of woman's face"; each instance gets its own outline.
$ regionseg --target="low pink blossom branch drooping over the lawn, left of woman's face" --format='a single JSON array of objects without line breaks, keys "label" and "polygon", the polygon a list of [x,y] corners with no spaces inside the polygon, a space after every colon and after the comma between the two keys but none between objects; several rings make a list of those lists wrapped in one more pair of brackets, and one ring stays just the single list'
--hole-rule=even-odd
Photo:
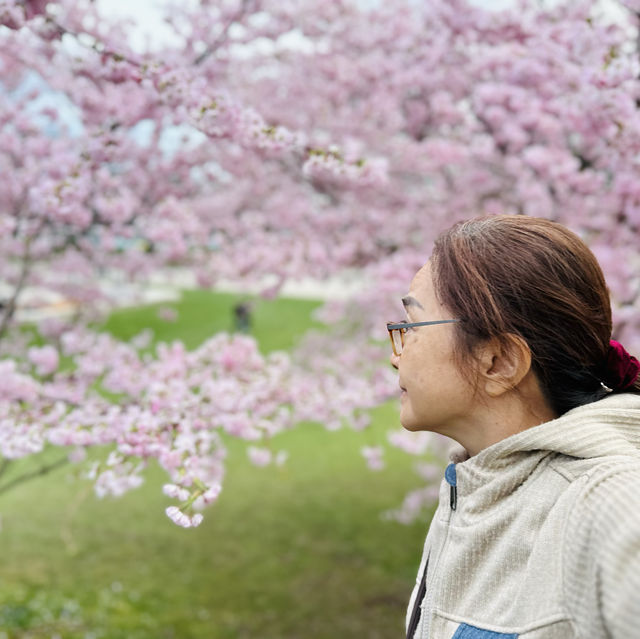
[{"label": "low pink blossom branch drooping over the lawn, left of woman's face", "polygon": [[[73,447],[70,459],[80,462],[87,448],[112,445],[108,458],[93,463],[87,474],[99,496],[137,487],[148,460],[156,459],[170,479],[163,490],[177,501],[167,515],[188,527],[202,521],[200,511],[222,488],[222,433],[255,444],[250,459],[265,465],[283,457],[265,457],[264,444],[273,435],[310,419],[328,428],[364,428],[362,402],[373,407],[390,395],[389,377],[375,373],[350,386],[345,367],[338,378],[318,385],[317,366],[296,365],[284,353],[264,357],[255,340],[244,336],[219,334],[191,352],[179,343],[160,344],[154,359],[141,356],[135,344],[142,342],[124,344],[76,330],[62,336],[60,354],[52,346],[32,347],[21,367],[0,361],[2,456],[18,459],[49,444]],[[313,345],[316,358],[318,346]],[[60,355],[71,360],[71,369],[59,368]],[[337,368],[326,356],[324,366]]]}]

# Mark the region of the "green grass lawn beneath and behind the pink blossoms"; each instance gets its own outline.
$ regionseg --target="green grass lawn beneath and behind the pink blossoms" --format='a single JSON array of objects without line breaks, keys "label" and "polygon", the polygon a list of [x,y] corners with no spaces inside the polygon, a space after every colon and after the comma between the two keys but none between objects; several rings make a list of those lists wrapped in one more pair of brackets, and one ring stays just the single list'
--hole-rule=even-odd
[{"label": "green grass lawn beneath and behind the pink blossoms", "polygon": [[[230,328],[237,299],[190,291],[170,305],[175,323],[149,306],[114,313],[106,328],[126,338],[152,326],[158,339],[194,347]],[[316,306],[257,302],[261,348],[290,348]],[[397,424],[389,404],[364,433],[302,425],[274,442],[289,452],[282,468],[255,468],[244,443],[228,441],[224,490],[197,529],[165,516],[170,501],[156,467],[117,500],[95,498],[71,467],[17,486],[0,496],[0,638],[402,636],[426,524],[402,526],[381,513],[417,479],[399,451],[390,449],[376,473],[360,455]]]}]

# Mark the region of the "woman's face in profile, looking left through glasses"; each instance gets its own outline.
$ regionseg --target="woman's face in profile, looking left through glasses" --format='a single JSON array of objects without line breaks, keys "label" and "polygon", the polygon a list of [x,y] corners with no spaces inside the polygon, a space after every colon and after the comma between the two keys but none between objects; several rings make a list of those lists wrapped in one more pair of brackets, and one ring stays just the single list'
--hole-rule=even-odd
[{"label": "woman's face in profile, looking left through glasses", "polygon": [[[427,262],[403,298],[408,322],[457,319],[436,299]],[[407,330],[404,347],[391,363],[400,376],[400,422],[407,430],[429,430],[456,439],[472,421],[475,393],[453,357],[455,324],[417,326]]]}]

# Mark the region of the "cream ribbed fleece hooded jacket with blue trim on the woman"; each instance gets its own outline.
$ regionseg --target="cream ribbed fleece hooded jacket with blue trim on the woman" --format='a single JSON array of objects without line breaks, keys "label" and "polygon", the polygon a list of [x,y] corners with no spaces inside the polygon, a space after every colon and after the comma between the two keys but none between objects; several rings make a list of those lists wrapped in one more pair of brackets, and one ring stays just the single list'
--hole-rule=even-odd
[{"label": "cream ribbed fleece hooded jacket with blue trim on the woman", "polygon": [[640,396],[454,455],[418,639],[640,639]]}]

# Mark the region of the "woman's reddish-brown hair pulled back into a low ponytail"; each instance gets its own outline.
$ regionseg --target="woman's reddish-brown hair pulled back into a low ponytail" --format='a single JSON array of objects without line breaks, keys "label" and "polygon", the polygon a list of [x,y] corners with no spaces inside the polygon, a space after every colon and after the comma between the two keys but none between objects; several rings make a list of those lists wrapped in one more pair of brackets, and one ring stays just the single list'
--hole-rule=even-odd
[{"label": "woman's reddish-brown hair pulled back into a low ponytail", "polygon": [[[474,218],[436,240],[431,265],[440,302],[464,320],[456,325],[463,367],[478,343],[515,334],[557,415],[608,394],[609,291],[575,233],[523,215]],[[640,379],[627,392],[640,393]]]}]

